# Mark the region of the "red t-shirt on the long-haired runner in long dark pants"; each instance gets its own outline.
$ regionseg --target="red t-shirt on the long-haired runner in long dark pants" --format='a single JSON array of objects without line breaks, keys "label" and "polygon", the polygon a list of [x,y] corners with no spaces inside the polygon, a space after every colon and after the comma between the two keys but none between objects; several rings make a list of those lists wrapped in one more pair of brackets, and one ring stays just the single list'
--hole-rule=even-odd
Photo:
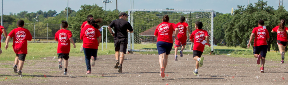
[{"label": "red t-shirt on the long-haired runner in long dark pants", "polygon": [[83,40],[84,48],[98,49],[97,38],[101,36],[98,29],[95,29],[92,25],[87,25],[81,29],[80,39]]}]

